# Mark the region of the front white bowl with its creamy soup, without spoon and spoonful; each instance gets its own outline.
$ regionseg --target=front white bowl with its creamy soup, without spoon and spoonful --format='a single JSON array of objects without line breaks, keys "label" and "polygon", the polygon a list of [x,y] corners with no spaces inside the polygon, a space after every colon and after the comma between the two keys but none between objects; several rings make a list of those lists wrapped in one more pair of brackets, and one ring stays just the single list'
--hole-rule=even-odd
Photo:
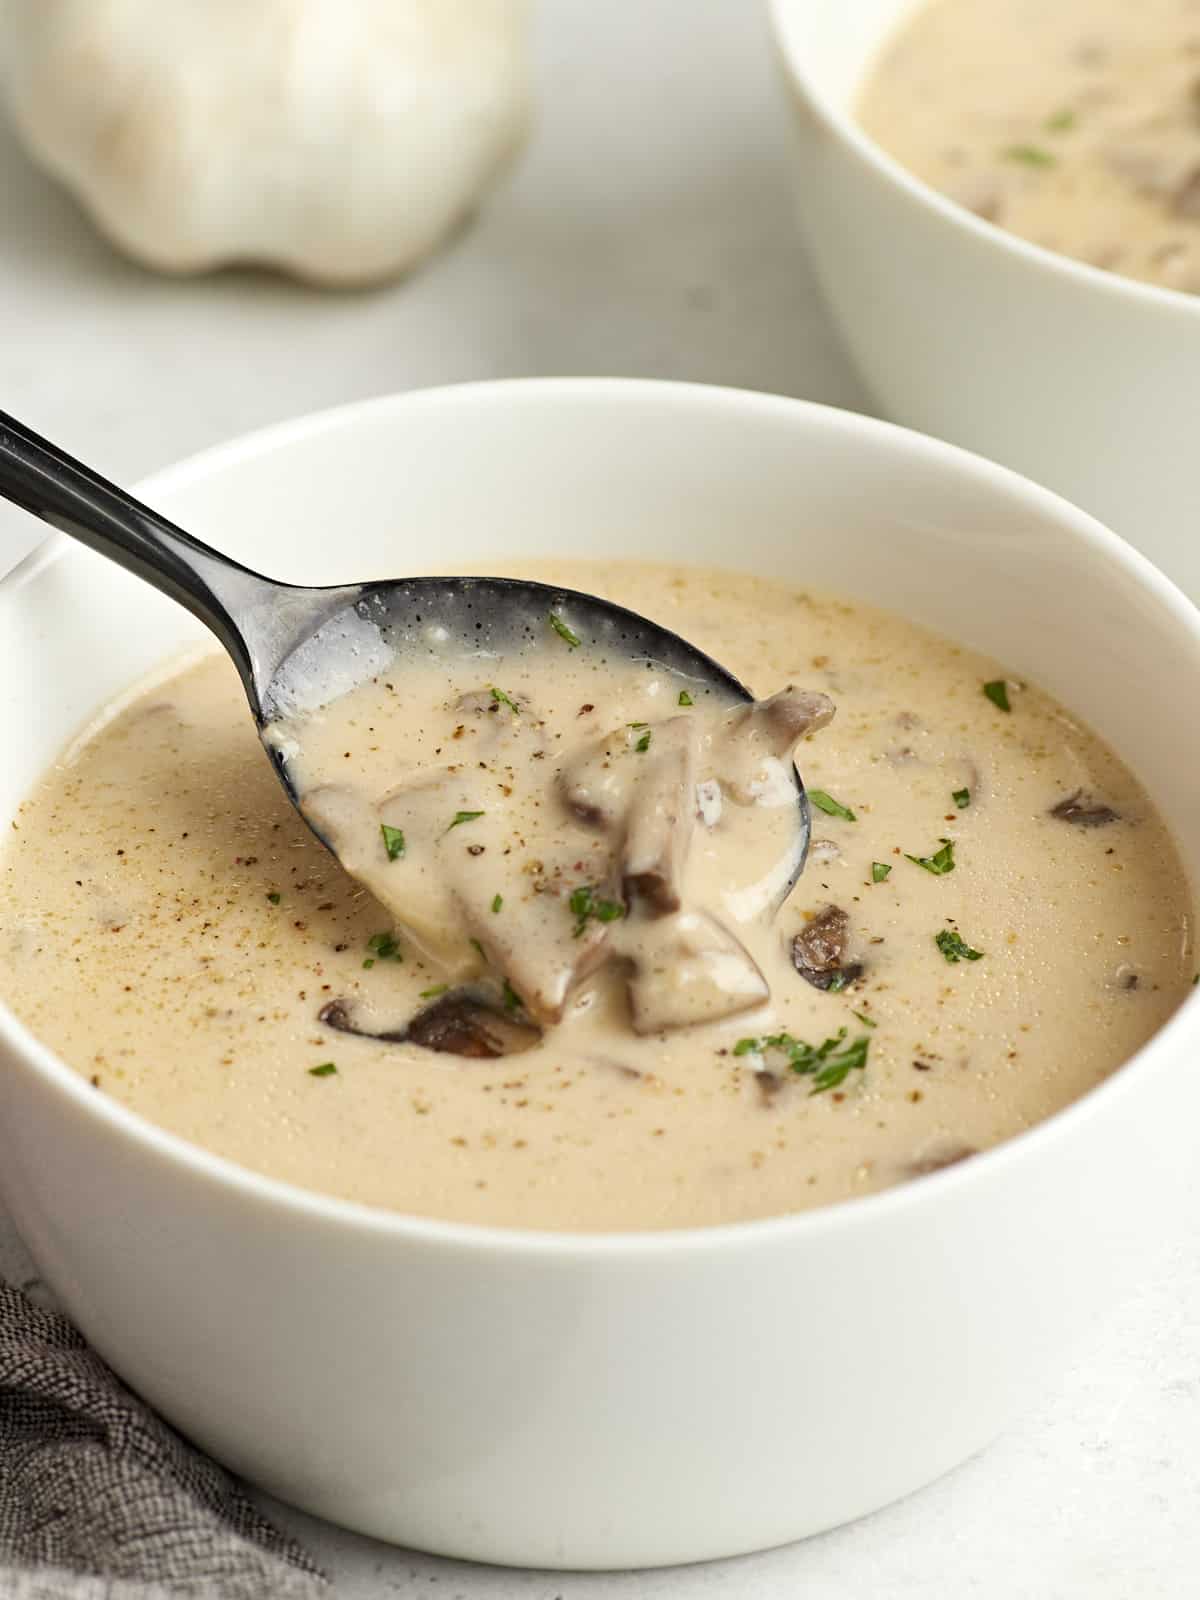
[{"label": "front white bowl with its creamy soup, without spoon and spoonful", "polygon": [[[195,624],[42,546],[0,586],[0,1186],[114,1368],[310,1512],[576,1568],[834,1526],[1032,1405],[1146,1270],[1190,1157],[1200,757],[1147,715],[1200,693],[1190,603],[1000,467],[718,389],[410,394],[142,493],[299,582],[435,560],[566,595],[566,544],[574,587],[821,717],[808,866],[770,938],[730,923],[774,1011],[638,1032],[581,979],[557,1056],[438,1054],[322,1019],[445,982],[302,838]],[[582,672],[565,603],[578,643],[544,648]],[[518,718],[542,694],[549,728],[549,691],[509,666],[451,741],[542,738]],[[656,709],[658,682],[587,734],[630,774],[702,712],[674,680]],[[597,702],[568,707],[579,739]],[[694,850],[742,803],[726,776]],[[451,800],[438,848],[491,870],[496,819]],[[422,835],[384,845],[403,872]],[[642,915],[627,882],[549,877],[523,874],[568,950]],[[522,893],[478,898],[485,950]]]}]

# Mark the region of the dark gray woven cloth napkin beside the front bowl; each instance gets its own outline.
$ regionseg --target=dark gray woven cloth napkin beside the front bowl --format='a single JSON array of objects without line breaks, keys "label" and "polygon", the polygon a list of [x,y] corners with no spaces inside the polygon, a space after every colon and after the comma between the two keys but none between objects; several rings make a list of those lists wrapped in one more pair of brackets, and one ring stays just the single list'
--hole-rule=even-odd
[{"label": "dark gray woven cloth napkin beside the front bowl", "polygon": [[328,1600],[80,1333],[0,1282],[0,1600]]}]

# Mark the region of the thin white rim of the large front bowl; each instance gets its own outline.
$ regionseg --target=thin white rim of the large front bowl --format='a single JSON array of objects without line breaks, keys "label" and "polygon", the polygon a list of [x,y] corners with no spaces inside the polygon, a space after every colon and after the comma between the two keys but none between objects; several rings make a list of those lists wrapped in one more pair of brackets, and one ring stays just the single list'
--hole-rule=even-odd
[{"label": "thin white rim of the large front bowl", "polygon": [[[283,422],[238,435],[187,456],[173,466],[133,485],[134,493],[150,504],[160,494],[211,477],[219,477],[227,467],[242,461],[270,456],[286,446],[322,434],[354,432],[363,419],[427,408],[453,410],[461,402],[512,406],[525,398],[562,402],[586,402],[624,406],[629,402],[653,402],[678,406],[694,414],[698,408],[742,411],[760,416],[794,416],[797,427],[810,430],[834,430],[851,438],[880,438],[891,448],[902,450],[909,459],[950,467],[971,474],[976,482],[1013,494],[1014,491],[1032,506],[1048,514],[1077,539],[1085,550],[1107,555],[1122,563],[1130,579],[1155,598],[1173,621],[1200,645],[1200,610],[1139,550],[1126,544],[1094,517],[1080,510],[1070,501],[1042,488],[1021,474],[997,462],[976,456],[957,445],[899,427],[878,418],[845,411],[786,395],[733,389],[709,384],[677,382],[661,379],[626,378],[515,378],[483,382],[446,384],[432,389],[414,389],[378,395],[370,400],[331,406],[307,413]],[[3,579],[0,579],[0,603],[13,602],[19,590],[32,582],[50,565],[75,554],[78,546],[62,533],[54,533],[38,544]],[[1182,1054],[1189,1040],[1200,1029],[1200,994],[1190,994],[1147,1038],[1147,1042],[1117,1067],[1102,1083],[1080,1099],[1072,1101],[1032,1128],[1014,1134],[1005,1142],[982,1150],[970,1162],[960,1162],[941,1171],[909,1179],[875,1194],[851,1197],[810,1211],[782,1213],[779,1216],[752,1218],[747,1221],[715,1222],[701,1227],[570,1232],[562,1229],[504,1227],[485,1222],[454,1222],[440,1218],[390,1211],[384,1206],[344,1200],[336,1195],[306,1189],[278,1178],[269,1178],[253,1168],[242,1166],[227,1157],[206,1150],[200,1144],[170,1133],[150,1122],[141,1112],[131,1110],[107,1094],[96,1094],[86,1080],[66,1061],[43,1045],[21,1022],[0,997],[0,1050],[32,1070],[43,1083],[72,1106],[85,1118],[96,1118],[110,1134],[128,1139],[146,1158],[179,1166],[190,1181],[205,1182],[226,1190],[245,1203],[264,1210],[288,1213],[298,1222],[341,1227],[397,1238],[410,1246],[453,1250],[474,1254],[507,1254],[522,1258],[550,1258],[557,1261],[605,1261],[605,1259],[658,1259],[662,1256],[693,1256],[715,1250],[741,1251],[747,1246],[795,1243],[818,1237],[837,1237],[846,1229],[867,1227],[877,1219],[902,1216],[912,1208],[939,1203],[942,1194],[957,1194],[963,1186],[974,1186],[981,1174],[997,1179],[1006,1168],[1038,1158],[1053,1150],[1058,1141],[1082,1134],[1086,1123],[1106,1110],[1110,1102],[1130,1093],[1141,1093],[1141,1078],[1155,1062]]]}]

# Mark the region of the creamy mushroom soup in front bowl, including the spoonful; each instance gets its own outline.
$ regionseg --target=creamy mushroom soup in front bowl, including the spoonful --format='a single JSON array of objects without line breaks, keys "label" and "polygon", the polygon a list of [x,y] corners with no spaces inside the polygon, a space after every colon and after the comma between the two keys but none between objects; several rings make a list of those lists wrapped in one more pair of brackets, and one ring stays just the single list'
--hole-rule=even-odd
[{"label": "creamy mushroom soup in front bowl, including the spoonful", "polygon": [[[597,670],[552,626],[525,659],[382,672],[272,736],[360,882],[288,805],[224,658],[142,685],[3,859],[5,994],[98,1093],[400,1211],[685,1227],[1011,1138],[1187,994],[1174,846],[1035,686],[778,582],[517,574],[776,693]],[[776,910],[795,739],[813,845]]]}]

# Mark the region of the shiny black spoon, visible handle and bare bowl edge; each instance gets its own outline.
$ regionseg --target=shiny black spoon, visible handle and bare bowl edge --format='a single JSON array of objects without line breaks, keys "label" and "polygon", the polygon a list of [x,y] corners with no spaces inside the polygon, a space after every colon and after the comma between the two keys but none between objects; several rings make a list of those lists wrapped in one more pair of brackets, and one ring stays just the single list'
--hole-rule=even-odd
[{"label": "shiny black spoon, visible handle and bare bowl edge", "polygon": [[[733,674],[678,634],[571,589],[514,578],[400,578],[307,589],[264,578],[3,411],[0,496],[144,578],[205,622],[242,675],[259,734],[280,715],[326,704],[374,675],[397,650],[427,648],[429,629],[446,629],[470,650],[502,653],[542,638],[552,616],[589,650],[658,662],[691,680],[694,693],[730,704],[752,699]],[[270,742],[266,749],[298,805],[285,757]],[[810,835],[798,773],[795,789],[789,890],[803,869]]]}]

